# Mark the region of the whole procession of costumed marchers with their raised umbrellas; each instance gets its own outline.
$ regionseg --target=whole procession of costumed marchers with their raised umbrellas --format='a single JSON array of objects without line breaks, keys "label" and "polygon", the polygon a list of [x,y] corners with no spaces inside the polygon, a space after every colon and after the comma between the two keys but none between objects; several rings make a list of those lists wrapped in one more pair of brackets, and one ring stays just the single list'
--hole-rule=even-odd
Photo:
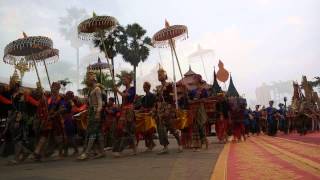
[{"label": "whole procession of costumed marchers with their raised umbrellas", "polygon": [[[9,84],[0,85],[1,154],[10,158],[13,155],[10,163],[43,161],[55,153],[63,159],[70,155],[70,148],[79,161],[104,158],[108,150],[116,158],[122,157],[125,149],[132,149],[132,155],[137,155],[140,140],[145,141],[146,151],[151,152],[156,138],[162,146],[157,154],[164,155],[170,152],[168,133],[178,145],[176,152],[182,153],[188,149],[195,152],[208,149],[207,137],[211,134],[220,143],[228,143],[261,134],[276,136],[296,131],[305,135],[320,130],[320,100],[305,76],[301,85],[293,84],[291,106],[285,102],[276,108],[270,100],[268,107],[256,105],[251,110],[221,61],[217,74],[214,70],[213,85],[207,84],[191,67],[182,74],[175,40],[187,37],[188,29],[184,25],[170,25],[168,21],[165,28],[154,34],[152,44],[170,47],[173,81],[168,80],[167,71],[159,65],[159,86],[144,82],[143,87],[137,87],[132,74],[126,72],[121,77],[124,86],[121,91],[123,87],[115,82],[114,62],[109,62],[105,46],[106,35],[117,25],[114,17],[93,13],[92,18],[78,26],[81,39],[100,41],[107,61],[103,64],[99,59],[94,67],[87,67],[86,93],[82,97],[72,91],[61,93],[61,83],[51,83],[47,61],[56,62],[59,51],[53,48],[50,38],[23,33],[23,38],[6,46],[4,62],[32,66],[38,77],[37,88],[22,87],[15,69]],[[43,89],[39,63],[45,67],[49,91]],[[176,80],[175,63],[180,81]],[[107,97],[108,90],[101,80],[102,69],[106,67],[110,71],[112,97]],[[221,89],[217,78],[223,83],[229,80],[227,90]],[[141,89],[145,95],[137,93]]]}]

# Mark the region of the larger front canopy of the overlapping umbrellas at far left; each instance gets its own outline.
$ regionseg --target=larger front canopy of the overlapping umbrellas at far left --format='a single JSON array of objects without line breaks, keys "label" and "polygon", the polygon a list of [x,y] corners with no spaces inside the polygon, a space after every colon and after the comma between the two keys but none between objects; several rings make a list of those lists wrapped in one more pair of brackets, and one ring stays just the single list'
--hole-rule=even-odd
[{"label": "larger front canopy of the overlapping umbrellas at far left", "polygon": [[48,37],[27,37],[25,33],[23,33],[23,36],[23,38],[12,41],[5,47],[3,56],[5,63],[15,65],[23,61],[26,56],[32,56],[53,47],[53,42]]}]

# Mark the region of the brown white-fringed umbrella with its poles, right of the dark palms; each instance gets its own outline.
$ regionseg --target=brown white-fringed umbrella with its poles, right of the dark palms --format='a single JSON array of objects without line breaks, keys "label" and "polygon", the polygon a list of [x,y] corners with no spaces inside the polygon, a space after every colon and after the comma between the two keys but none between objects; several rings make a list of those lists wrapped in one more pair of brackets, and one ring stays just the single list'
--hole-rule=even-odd
[{"label": "brown white-fringed umbrella with its poles, right of the dark palms", "polygon": [[181,78],[183,78],[180,63],[178,60],[178,55],[175,48],[175,40],[177,39],[186,39],[188,37],[188,28],[184,25],[172,25],[165,21],[165,28],[161,29],[155,33],[152,37],[152,43],[157,47],[170,47],[172,55],[172,68],[173,68],[173,81],[174,81],[174,93],[176,108],[178,109],[178,95],[177,95],[177,84],[176,84],[176,75],[175,75],[175,65],[174,57],[176,58]]}]

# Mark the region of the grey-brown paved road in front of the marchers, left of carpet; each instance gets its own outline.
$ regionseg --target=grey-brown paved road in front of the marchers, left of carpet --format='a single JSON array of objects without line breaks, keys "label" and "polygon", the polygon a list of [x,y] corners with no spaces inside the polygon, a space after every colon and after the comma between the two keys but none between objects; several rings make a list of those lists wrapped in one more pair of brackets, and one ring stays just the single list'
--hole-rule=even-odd
[{"label": "grey-brown paved road in front of the marchers, left of carpet", "polygon": [[[177,145],[170,140],[170,153],[157,155],[155,152],[145,153],[139,148],[137,156],[112,158],[107,153],[104,159],[84,162],[67,158],[59,161],[42,163],[26,162],[21,165],[8,166],[7,159],[0,159],[0,179],[4,180],[60,180],[60,179],[130,179],[130,180],[163,180],[163,179],[210,179],[215,162],[223,145],[217,144],[215,138],[210,138],[212,144],[208,150],[193,152],[185,150],[177,153]],[[144,143],[140,143],[143,146]],[[160,150],[157,146],[155,151]],[[129,154],[131,151],[125,151]]]}]

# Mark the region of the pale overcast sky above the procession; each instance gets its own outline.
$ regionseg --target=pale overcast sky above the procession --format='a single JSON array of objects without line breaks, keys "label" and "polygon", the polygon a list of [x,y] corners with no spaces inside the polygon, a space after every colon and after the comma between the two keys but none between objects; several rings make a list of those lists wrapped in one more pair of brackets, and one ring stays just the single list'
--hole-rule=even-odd
[{"label": "pale overcast sky above the procession", "polygon": [[[149,36],[164,27],[165,19],[188,26],[189,38],[177,42],[182,70],[186,72],[191,65],[204,75],[200,59],[187,58],[201,44],[215,52],[204,57],[209,81],[213,66],[221,59],[232,72],[239,93],[247,97],[253,98],[255,88],[262,82],[300,81],[302,74],[309,79],[320,75],[319,0],[0,0],[0,56],[3,57],[6,44],[22,37],[22,31],[30,36],[45,35],[60,50],[60,62],[49,66],[49,71],[65,65],[74,71],[76,51],[59,32],[59,17],[66,16],[66,9],[72,7],[83,8],[88,15],[95,11],[114,16],[122,25],[137,22]],[[92,58],[97,52],[82,46],[80,58]],[[153,49],[148,61],[139,67],[138,75],[155,70],[160,57],[171,76],[169,49]],[[87,61],[82,62],[83,68]],[[116,68],[130,66],[118,57]],[[0,77],[13,72],[2,61],[0,69]],[[50,71],[53,80],[64,77],[67,68],[62,69],[58,73]],[[35,72],[27,73],[24,79],[30,84],[35,80]]]}]

